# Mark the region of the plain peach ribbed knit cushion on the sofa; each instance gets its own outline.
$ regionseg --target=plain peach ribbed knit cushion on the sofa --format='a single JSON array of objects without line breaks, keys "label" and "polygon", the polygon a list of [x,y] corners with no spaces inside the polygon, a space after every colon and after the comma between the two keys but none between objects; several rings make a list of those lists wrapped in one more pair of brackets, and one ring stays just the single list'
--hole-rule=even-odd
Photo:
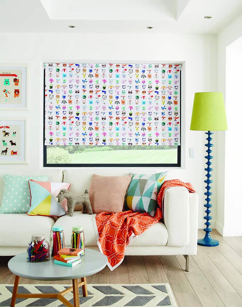
[{"label": "plain peach ribbed knit cushion on the sofa", "polygon": [[93,213],[122,212],[132,175],[100,176],[93,174],[89,198]]}]

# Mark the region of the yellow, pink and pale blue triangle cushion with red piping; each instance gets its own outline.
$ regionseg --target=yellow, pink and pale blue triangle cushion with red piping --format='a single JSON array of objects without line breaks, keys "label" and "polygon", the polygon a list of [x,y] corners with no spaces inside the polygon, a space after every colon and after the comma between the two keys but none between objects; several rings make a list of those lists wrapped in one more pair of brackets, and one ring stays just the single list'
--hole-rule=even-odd
[{"label": "yellow, pink and pale blue triangle cushion with red piping", "polygon": [[30,209],[28,215],[63,216],[67,211],[67,199],[61,203],[56,201],[56,196],[61,189],[69,189],[70,183],[44,182],[29,180]]}]

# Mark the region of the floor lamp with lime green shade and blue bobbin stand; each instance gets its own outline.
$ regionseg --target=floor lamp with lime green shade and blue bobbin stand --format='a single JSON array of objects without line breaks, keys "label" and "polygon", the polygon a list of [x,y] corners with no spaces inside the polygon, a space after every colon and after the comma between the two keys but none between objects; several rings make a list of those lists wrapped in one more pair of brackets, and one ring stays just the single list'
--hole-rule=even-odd
[{"label": "floor lamp with lime green shade and blue bobbin stand", "polygon": [[205,171],[207,172],[205,176],[207,177],[207,179],[204,180],[204,182],[207,184],[205,187],[207,192],[204,193],[206,195],[206,204],[204,205],[204,207],[206,208],[206,216],[204,216],[204,219],[206,220],[206,227],[203,229],[205,231],[205,237],[203,239],[197,240],[197,244],[202,246],[219,245],[218,240],[211,238],[210,232],[212,231],[212,229],[209,227],[211,225],[210,220],[212,220],[212,216],[209,215],[211,213],[210,208],[213,207],[212,204],[210,204],[211,198],[209,197],[213,194],[212,192],[210,192],[210,184],[213,182],[210,179],[210,177],[212,176],[210,172],[213,170],[210,167],[212,164],[210,160],[213,159],[213,156],[210,155],[210,153],[212,152],[211,147],[213,147],[213,144],[211,143],[211,135],[213,134],[213,132],[211,131],[227,129],[228,127],[225,115],[223,93],[195,93],[190,130],[208,131],[205,132],[205,134],[208,135],[208,137],[206,138],[208,143],[205,144],[205,146],[207,147],[207,155],[205,156],[205,158],[207,159],[207,167],[205,168]]}]

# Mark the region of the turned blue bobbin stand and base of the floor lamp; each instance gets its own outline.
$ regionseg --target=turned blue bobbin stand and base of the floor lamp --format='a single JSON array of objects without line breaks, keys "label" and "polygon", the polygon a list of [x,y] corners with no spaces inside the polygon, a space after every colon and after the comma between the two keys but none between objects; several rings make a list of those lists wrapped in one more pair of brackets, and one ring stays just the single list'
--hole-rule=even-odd
[{"label": "turned blue bobbin stand and base of the floor lamp", "polygon": [[213,180],[210,179],[210,177],[212,176],[210,174],[210,172],[212,172],[212,170],[213,170],[210,167],[211,164],[212,164],[212,162],[210,160],[213,159],[213,156],[210,155],[210,153],[212,152],[210,147],[213,147],[213,144],[211,144],[211,141],[212,141],[211,134],[213,134],[213,132],[208,131],[208,132],[205,132],[205,134],[208,135],[208,137],[206,138],[208,143],[205,144],[205,146],[208,148],[206,150],[206,152],[208,154],[205,156],[205,158],[208,160],[206,162],[207,167],[205,168],[205,171],[207,172],[207,174],[205,176],[207,177],[207,179],[204,180],[204,182],[207,184],[206,185],[207,192],[204,193],[206,195],[205,200],[206,200],[207,203],[204,205],[204,207],[206,208],[206,210],[205,210],[206,216],[203,217],[206,220],[206,222],[204,223],[206,225],[206,228],[203,229],[205,231],[205,237],[203,239],[198,239],[197,244],[202,245],[202,246],[217,246],[217,245],[219,245],[219,241],[212,239],[210,237],[210,232],[212,231],[212,229],[209,227],[211,225],[211,223],[209,221],[212,220],[212,216],[209,215],[211,213],[210,208],[213,207],[213,205],[210,204],[211,198],[209,197],[209,196],[213,195],[213,193],[210,192],[210,189],[211,189],[210,184],[213,182]]}]

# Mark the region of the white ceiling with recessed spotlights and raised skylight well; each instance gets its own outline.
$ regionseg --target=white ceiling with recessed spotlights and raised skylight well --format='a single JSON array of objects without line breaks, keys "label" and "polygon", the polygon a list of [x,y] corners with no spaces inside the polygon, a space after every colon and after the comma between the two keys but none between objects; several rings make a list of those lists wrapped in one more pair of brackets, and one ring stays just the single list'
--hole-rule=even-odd
[{"label": "white ceiling with recessed spotlights and raised skylight well", "polygon": [[241,0],[8,0],[0,31],[216,34],[241,13]]}]

